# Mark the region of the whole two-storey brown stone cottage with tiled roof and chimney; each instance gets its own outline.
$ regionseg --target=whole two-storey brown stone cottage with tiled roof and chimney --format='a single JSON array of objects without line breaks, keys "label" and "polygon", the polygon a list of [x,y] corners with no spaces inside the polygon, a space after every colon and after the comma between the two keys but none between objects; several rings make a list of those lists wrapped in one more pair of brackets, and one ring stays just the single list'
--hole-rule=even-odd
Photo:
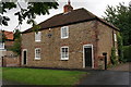
[{"label": "whole two-storey brown stone cottage with tiled roof and chimney", "polygon": [[38,25],[38,33],[22,33],[22,66],[98,69],[103,53],[109,64],[111,48],[117,49],[119,29],[83,8],[73,10],[70,2]]}]

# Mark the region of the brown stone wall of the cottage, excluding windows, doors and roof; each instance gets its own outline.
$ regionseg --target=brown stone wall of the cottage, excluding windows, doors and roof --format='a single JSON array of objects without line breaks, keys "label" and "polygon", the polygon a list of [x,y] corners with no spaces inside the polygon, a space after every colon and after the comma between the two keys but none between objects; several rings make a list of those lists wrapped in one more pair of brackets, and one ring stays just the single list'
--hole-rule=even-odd
[{"label": "brown stone wall of the cottage, excluding windows, doors and roof", "polygon": [[[27,49],[26,66],[82,69],[83,45],[87,44],[93,45],[95,69],[98,67],[97,58],[103,52],[108,52],[109,59],[112,47],[112,28],[97,21],[73,24],[69,25],[69,38],[67,39],[61,39],[60,28],[41,30],[40,42],[35,42],[35,33],[22,35],[22,50]],[[51,37],[48,37],[48,34],[51,34]],[[60,60],[60,48],[62,46],[69,47],[68,61]],[[40,60],[35,60],[35,48],[41,49]]]}]

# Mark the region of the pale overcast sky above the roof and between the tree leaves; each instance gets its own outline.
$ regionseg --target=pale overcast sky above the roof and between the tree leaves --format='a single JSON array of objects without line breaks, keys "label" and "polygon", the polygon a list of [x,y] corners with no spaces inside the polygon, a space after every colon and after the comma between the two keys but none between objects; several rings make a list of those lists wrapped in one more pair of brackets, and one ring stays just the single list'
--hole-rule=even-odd
[{"label": "pale overcast sky above the roof and between the tree leaves", "polygon": [[[129,2],[131,0],[70,0],[71,1],[71,5],[73,7],[73,9],[80,9],[80,8],[84,8],[87,11],[92,12],[93,14],[97,15],[98,17],[105,16],[104,12],[107,9],[107,5],[112,5],[116,7],[119,4],[119,2],[124,2],[126,5],[129,5]],[[59,7],[57,10],[49,10],[50,14],[49,15],[40,15],[36,17],[36,22],[37,24],[39,24],[40,22],[44,22],[45,20],[62,13],[63,12],[63,7],[68,3],[68,0],[58,0]],[[22,8],[25,8],[25,3],[21,2]],[[20,9],[13,9],[11,11],[9,11],[8,13],[5,13],[4,15],[10,17],[10,22],[9,22],[9,26],[1,26],[0,29],[4,29],[4,30],[9,30],[9,32],[13,32],[14,28],[19,28],[21,32],[24,32],[28,28],[32,27],[32,25],[26,24],[26,22],[24,21],[23,24],[19,27],[19,21],[17,17],[14,16],[13,14],[15,12],[17,12]]]}]

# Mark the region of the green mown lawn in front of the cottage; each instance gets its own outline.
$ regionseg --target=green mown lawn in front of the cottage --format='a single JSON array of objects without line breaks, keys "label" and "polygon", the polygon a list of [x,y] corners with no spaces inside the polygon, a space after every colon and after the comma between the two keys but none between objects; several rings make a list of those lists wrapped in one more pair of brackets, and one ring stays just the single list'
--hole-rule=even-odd
[{"label": "green mown lawn in front of the cottage", "polygon": [[3,67],[5,80],[27,85],[75,85],[86,72]]}]

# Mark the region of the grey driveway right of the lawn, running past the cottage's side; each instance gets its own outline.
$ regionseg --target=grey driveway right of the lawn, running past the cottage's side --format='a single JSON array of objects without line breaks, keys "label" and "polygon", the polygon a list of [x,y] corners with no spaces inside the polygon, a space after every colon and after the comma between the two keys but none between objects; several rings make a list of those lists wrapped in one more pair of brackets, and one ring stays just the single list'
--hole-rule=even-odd
[{"label": "grey driveway right of the lawn, running past the cottage's side", "polygon": [[131,63],[120,64],[107,71],[88,71],[80,85],[131,85]]}]

